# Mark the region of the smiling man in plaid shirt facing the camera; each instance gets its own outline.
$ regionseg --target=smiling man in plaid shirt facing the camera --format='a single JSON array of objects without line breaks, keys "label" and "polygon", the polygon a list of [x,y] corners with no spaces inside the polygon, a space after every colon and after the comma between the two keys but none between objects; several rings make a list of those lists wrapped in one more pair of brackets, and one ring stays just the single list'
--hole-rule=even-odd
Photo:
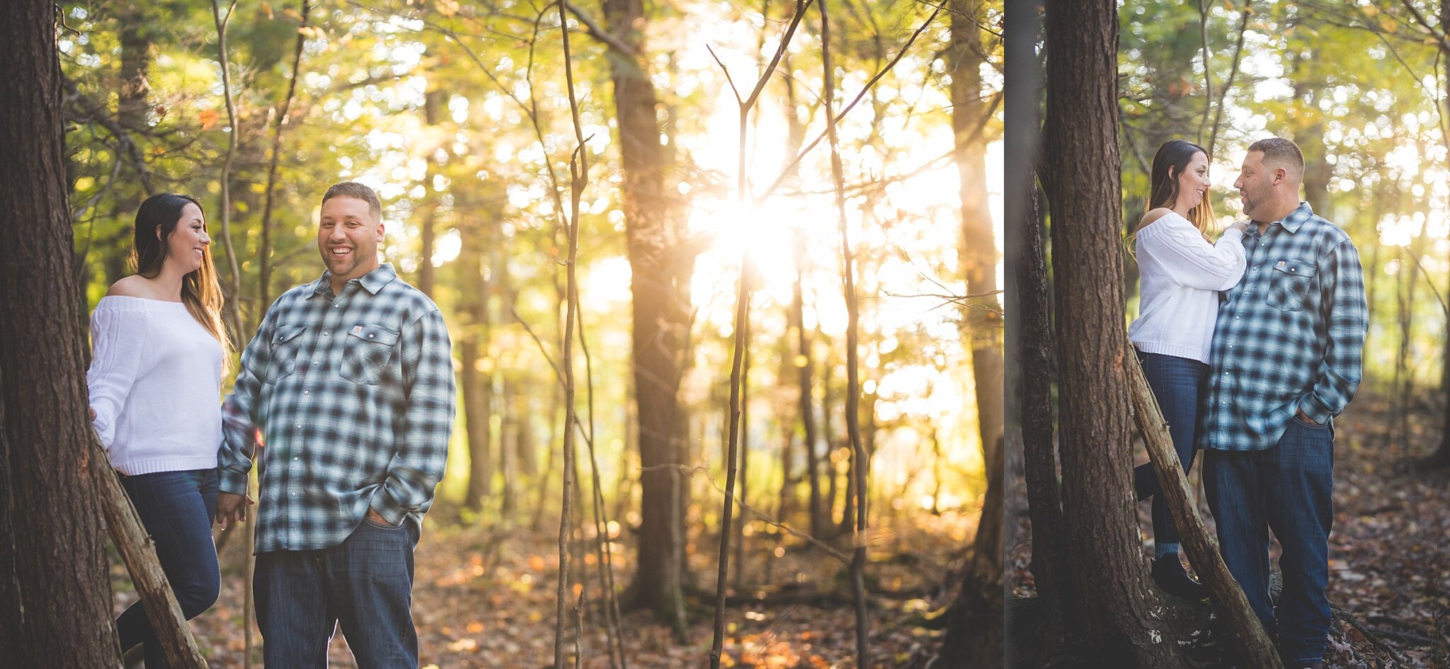
[{"label": "smiling man in plaid shirt facing the camera", "polygon": [[341,625],[360,666],[416,669],[413,549],[448,457],[448,331],[378,263],[373,189],[332,186],[320,219],[328,271],[267,311],[223,406],[218,520],[244,520],[257,451],[267,666],[325,668]]}]

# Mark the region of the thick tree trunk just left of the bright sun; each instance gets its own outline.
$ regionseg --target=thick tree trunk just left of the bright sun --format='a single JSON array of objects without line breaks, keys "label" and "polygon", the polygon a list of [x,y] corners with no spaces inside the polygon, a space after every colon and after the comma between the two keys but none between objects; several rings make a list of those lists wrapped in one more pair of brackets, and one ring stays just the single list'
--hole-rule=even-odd
[{"label": "thick tree trunk just left of the bright sun", "polygon": [[[622,155],[622,205],[628,241],[631,353],[634,358],[635,408],[639,416],[641,524],[635,575],[622,605],[648,608],[667,620],[676,634],[684,634],[684,527],[686,501],[683,425],[679,389],[683,351],[689,338],[687,306],[676,283],[677,239],[668,219],[664,193],[668,170],[660,142],[657,96],[650,81],[644,51],[647,22],[642,0],[605,0],[609,29],[632,52],[610,52],[615,115]],[[684,284],[689,276],[684,276]]]}]

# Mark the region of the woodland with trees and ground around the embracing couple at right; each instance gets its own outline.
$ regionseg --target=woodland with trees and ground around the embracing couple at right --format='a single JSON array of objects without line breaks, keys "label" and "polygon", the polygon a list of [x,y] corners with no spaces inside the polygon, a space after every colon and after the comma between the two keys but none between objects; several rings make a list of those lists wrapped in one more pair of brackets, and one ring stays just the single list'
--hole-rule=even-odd
[{"label": "woodland with trees and ground around the embracing couple at right", "polygon": [[1048,1],[1009,7],[1008,26],[1014,662],[1244,666],[1221,610],[1147,578],[1125,237],[1161,142],[1209,149],[1231,222],[1246,148],[1277,135],[1305,152],[1304,199],[1354,239],[1370,308],[1364,377],[1335,421],[1327,666],[1450,666],[1450,3]]}]

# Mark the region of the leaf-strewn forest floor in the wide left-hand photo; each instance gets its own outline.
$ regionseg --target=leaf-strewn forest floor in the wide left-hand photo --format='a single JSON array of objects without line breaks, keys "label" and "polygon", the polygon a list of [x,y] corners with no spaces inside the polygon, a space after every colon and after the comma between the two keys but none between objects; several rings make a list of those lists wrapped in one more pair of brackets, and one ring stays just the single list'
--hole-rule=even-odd
[{"label": "leaf-strewn forest floor in the wide left-hand photo", "polygon": [[[871,602],[871,666],[921,665],[940,646],[940,631],[919,627],[928,611],[950,602],[947,576],[960,569],[964,547],[976,531],[980,508],[950,509],[876,521],[867,566]],[[429,514],[415,553],[413,620],[419,631],[420,666],[545,668],[552,666],[558,530],[483,528],[444,521]],[[557,518],[557,517],[555,517]],[[754,524],[754,530],[764,525]],[[856,618],[845,565],[826,551],[779,534],[747,540],[745,588],[760,599],[726,607],[721,666],[768,669],[856,668]],[[628,668],[709,666],[713,639],[713,596],[718,538],[692,534],[689,562],[696,595],[687,601],[687,643],[644,611],[624,615]],[[845,540],[848,543],[848,538]],[[592,553],[583,556],[590,605],[586,610],[579,666],[609,668],[608,637],[597,607],[599,575]],[[634,549],[613,543],[616,586],[634,573]],[[840,546],[840,544],[838,544]],[[776,549],[783,550],[776,550]],[[244,575],[242,541],[228,541],[222,556],[222,595],[191,621],[191,630],[213,668],[242,668]],[[779,557],[777,557],[779,556]],[[580,557],[571,559],[577,566]],[[731,563],[734,578],[735,565]],[[571,569],[579,573],[577,569]],[[577,578],[577,576],[576,576]],[[567,625],[579,585],[571,580]],[[136,601],[125,566],[112,554],[112,591],[119,612]],[[566,637],[571,653],[573,636]],[[261,639],[252,627],[252,668],[261,668]],[[339,633],[331,646],[332,668],[355,668]],[[574,666],[573,654],[567,666]]]}]

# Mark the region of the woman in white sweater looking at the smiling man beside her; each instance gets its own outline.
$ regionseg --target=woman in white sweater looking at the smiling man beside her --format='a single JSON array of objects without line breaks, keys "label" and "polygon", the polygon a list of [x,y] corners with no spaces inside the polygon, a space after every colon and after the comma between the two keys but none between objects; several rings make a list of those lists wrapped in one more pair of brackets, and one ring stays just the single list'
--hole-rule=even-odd
[{"label": "woman in white sweater looking at the smiling man beside her", "polygon": [[[220,588],[212,518],[231,342],[210,244],[193,197],[162,193],[141,203],[136,273],[96,305],[86,374],[96,434],[187,618],[210,608]],[[142,602],[116,628],[122,650],[145,644],[146,666],[167,666]]]}]

